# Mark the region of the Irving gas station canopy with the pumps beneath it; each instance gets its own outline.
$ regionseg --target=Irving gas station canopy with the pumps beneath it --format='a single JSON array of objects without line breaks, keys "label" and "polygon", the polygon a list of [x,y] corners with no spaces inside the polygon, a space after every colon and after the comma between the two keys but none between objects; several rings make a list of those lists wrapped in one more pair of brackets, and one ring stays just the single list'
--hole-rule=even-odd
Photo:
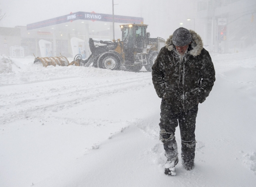
[{"label": "Irving gas station canopy with the pumps beneath it", "polygon": [[[116,33],[115,39],[119,39],[122,37],[119,27],[121,24],[143,24],[143,18],[118,15],[113,17],[112,14],[96,12],[70,12],[64,16],[27,24],[26,28],[30,38],[36,40],[33,53],[38,56],[51,57],[61,53],[67,57],[72,54],[74,57],[79,53],[88,57],[89,38],[111,41],[112,33]],[[38,53],[39,49],[41,55]]]}]

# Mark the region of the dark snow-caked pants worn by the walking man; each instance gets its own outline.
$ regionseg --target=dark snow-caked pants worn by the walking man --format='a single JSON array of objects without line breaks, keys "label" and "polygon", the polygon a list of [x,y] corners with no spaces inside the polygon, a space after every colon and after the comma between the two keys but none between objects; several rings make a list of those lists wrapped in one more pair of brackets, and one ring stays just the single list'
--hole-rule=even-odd
[{"label": "dark snow-caked pants worn by the walking man", "polygon": [[170,105],[162,100],[160,113],[160,139],[164,143],[165,156],[169,160],[175,160],[178,156],[175,140],[176,127],[180,126],[181,158],[184,163],[193,163],[195,158],[196,140],[195,128],[198,105],[192,109],[173,113]]}]

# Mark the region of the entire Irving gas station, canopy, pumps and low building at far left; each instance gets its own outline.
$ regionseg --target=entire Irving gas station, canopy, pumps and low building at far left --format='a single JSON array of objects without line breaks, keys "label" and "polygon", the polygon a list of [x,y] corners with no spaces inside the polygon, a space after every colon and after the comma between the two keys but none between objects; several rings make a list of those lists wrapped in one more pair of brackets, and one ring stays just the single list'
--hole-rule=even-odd
[{"label": "entire Irving gas station, canopy, pumps and low building at far left", "polygon": [[27,26],[0,27],[1,53],[10,57],[74,57],[90,55],[89,38],[112,41],[121,39],[121,24],[141,24],[142,17],[117,16],[95,12],[75,12]]}]

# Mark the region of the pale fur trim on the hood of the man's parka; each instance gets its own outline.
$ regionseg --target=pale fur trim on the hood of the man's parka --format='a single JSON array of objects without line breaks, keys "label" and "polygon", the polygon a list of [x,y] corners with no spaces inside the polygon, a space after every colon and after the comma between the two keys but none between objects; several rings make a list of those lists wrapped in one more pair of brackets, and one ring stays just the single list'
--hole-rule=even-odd
[{"label": "pale fur trim on the hood of the man's parka", "polygon": [[[197,55],[199,55],[201,53],[201,50],[203,49],[203,42],[202,42],[201,37],[195,31],[189,30],[189,32],[192,35],[192,43],[191,43],[192,49],[188,53],[191,54],[192,56],[196,57]],[[172,51],[173,49],[175,50],[175,46],[172,43],[172,36],[173,35],[171,35],[165,42],[165,47],[169,51]]]}]

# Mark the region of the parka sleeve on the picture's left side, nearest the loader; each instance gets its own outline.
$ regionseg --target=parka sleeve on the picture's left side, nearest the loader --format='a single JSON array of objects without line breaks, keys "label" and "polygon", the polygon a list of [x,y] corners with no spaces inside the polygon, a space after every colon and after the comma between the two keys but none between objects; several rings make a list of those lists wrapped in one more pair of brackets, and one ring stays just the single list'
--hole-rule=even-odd
[{"label": "parka sleeve on the picture's left side, nearest the loader", "polygon": [[165,82],[164,82],[164,65],[162,64],[162,48],[152,66],[152,82],[155,87],[155,91],[159,98],[162,98],[165,94]]}]

